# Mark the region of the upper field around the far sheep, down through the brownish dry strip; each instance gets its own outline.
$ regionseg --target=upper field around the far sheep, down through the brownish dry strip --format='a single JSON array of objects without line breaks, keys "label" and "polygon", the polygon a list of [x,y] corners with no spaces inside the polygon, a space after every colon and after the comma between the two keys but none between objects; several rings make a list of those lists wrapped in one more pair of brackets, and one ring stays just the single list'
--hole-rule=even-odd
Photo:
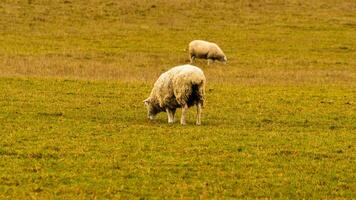
[{"label": "upper field around the far sheep, down through the brownish dry strip", "polygon": [[0,76],[151,83],[207,39],[229,60],[197,63],[211,82],[356,82],[351,0],[5,1],[0,11]]}]

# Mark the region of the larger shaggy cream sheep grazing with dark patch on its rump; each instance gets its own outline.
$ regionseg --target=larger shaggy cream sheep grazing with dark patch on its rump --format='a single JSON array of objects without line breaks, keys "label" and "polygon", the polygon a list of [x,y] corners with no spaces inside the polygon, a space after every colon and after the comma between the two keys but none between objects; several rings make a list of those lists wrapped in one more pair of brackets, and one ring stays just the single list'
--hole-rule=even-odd
[{"label": "larger shaggy cream sheep grazing with dark patch on its rump", "polygon": [[181,65],[161,74],[153,86],[150,96],[144,100],[149,119],[159,112],[167,112],[168,123],[174,122],[177,108],[182,108],[180,123],[186,124],[188,107],[197,106],[196,124],[201,124],[201,109],[204,104],[205,76],[193,65]]}]

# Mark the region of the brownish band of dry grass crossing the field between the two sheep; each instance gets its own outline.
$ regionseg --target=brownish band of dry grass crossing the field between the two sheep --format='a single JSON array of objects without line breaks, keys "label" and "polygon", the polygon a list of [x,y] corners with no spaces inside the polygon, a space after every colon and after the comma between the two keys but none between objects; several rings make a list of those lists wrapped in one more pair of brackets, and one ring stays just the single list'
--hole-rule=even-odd
[{"label": "brownish band of dry grass crossing the field between the two sheep", "polygon": [[[95,61],[90,59],[75,60],[39,57],[5,59],[0,68],[2,76],[20,77],[57,77],[89,80],[120,80],[125,82],[152,83],[160,73],[174,66],[168,62],[158,64],[156,57],[141,57],[142,55],[127,56],[125,59],[114,61]],[[176,59],[176,63],[184,59]],[[183,61],[183,62],[179,62]],[[206,65],[198,61],[209,82],[225,84],[351,84],[356,83],[356,73],[353,69],[345,68],[275,68],[273,64],[267,67],[248,68],[234,67],[230,64]]]}]

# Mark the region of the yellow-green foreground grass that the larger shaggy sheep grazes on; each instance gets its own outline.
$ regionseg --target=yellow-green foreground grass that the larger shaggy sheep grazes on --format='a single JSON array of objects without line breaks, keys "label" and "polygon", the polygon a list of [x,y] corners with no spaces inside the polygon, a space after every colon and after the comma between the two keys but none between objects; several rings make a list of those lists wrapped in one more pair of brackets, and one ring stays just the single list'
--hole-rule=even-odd
[{"label": "yellow-green foreground grass that the larger shaggy sheep grazes on", "polygon": [[0,86],[2,197],[355,197],[349,87],[210,84],[197,127],[148,121],[145,84]]}]

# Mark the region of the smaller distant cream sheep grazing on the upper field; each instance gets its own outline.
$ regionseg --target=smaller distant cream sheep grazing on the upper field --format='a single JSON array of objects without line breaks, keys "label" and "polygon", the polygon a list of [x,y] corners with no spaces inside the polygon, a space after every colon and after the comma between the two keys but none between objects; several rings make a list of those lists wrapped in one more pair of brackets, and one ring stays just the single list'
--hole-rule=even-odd
[{"label": "smaller distant cream sheep grazing on the upper field", "polygon": [[219,60],[226,64],[227,58],[220,47],[212,42],[204,40],[193,40],[189,43],[189,58],[190,64],[192,64],[195,58],[208,59],[208,65],[210,61]]}]

